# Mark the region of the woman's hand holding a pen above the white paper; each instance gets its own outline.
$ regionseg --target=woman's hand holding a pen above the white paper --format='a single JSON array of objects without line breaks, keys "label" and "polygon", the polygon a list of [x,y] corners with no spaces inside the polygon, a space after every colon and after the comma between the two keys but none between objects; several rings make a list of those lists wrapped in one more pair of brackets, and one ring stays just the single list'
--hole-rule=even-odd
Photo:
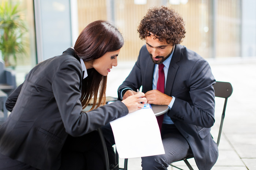
[{"label": "woman's hand holding a pen above the white paper", "polygon": [[[128,108],[129,113],[134,112],[136,110],[141,109],[145,103],[147,103],[147,99],[144,98],[145,94],[143,92],[137,93],[132,96],[128,96],[122,102]],[[140,103],[142,102],[142,103]]]}]

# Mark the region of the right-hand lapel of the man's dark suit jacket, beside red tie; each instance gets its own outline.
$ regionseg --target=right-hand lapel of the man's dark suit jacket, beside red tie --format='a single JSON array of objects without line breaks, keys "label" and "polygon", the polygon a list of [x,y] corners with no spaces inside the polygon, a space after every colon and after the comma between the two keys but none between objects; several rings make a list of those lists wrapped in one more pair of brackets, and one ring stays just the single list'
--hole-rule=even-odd
[{"label": "right-hand lapel of the man's dark suit jacket, beside red tie", "polygon": [[173,82],[177,73],[177,70],[179,68],[177,62],[180,61],[180,54],[181,54],[181,47],[180,45],[176,45],[174,48],[172,60],[170,62],[170,66],[167,73],[167,80],[165,85],[165,94],[171,95],[171,91],[173,88]]}]

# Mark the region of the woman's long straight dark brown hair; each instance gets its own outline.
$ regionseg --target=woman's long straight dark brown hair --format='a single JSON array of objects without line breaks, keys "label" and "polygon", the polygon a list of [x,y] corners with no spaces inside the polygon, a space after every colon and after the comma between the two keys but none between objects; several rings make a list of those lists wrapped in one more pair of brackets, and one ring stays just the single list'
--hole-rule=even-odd
[{"label": "woman's long straight dark brown hair", "polygon": [[[83,29],[74,49],[79,58],[90,61],[100,58],[106,52],[117,51],[123,45],[124,39],[118,29],[108,21],[98,20]],[[87,74],[88,76],[82,81],[81,103],[85,108],[93,98],[92,110],[105,104],[107,76],[99,74],[94,68],[88,69]]]}]

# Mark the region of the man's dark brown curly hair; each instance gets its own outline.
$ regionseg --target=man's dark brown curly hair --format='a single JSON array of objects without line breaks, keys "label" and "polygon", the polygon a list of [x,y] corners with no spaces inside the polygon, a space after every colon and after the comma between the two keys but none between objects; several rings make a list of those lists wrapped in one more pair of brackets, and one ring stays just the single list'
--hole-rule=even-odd
[{"label": "man's dark brown curly hair", "polygon": [[165,6],[148,9],[146,16],[140,21],[137,29],[139,37],[145,40],[154,34],[154,39],[164,41],[168,44],[180,44],[185,37],[185,23],[180,14],[174,9]]}]

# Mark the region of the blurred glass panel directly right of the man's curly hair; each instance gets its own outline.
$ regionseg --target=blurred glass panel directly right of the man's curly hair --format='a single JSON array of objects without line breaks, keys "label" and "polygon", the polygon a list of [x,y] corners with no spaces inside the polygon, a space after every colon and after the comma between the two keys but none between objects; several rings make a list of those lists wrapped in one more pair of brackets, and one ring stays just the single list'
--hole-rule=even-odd
[{"label": "blurred glass panel directly right of the man's curly hair", "polygon": [[212,27],[209,0],[169,0],[168,6],[176,9],[185,21],[186,34],[181,45],[195,51],[204,58],[211,57]]}]

